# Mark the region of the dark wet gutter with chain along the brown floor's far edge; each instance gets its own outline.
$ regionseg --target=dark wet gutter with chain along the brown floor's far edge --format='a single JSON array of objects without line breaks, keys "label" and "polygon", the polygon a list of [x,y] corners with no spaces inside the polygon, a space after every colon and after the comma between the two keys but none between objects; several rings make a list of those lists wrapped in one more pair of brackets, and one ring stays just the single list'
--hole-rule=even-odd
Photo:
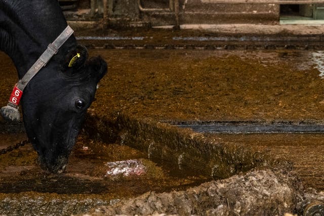
[{"label": "dark wet gutter with chain along the brown floor's far edge", "polygon": [[77,36],[88,48],[95,49],[187,49],[187,50],[318,50],[322,38],[309,37],[166,37],[156,44],[149,36]]}]

